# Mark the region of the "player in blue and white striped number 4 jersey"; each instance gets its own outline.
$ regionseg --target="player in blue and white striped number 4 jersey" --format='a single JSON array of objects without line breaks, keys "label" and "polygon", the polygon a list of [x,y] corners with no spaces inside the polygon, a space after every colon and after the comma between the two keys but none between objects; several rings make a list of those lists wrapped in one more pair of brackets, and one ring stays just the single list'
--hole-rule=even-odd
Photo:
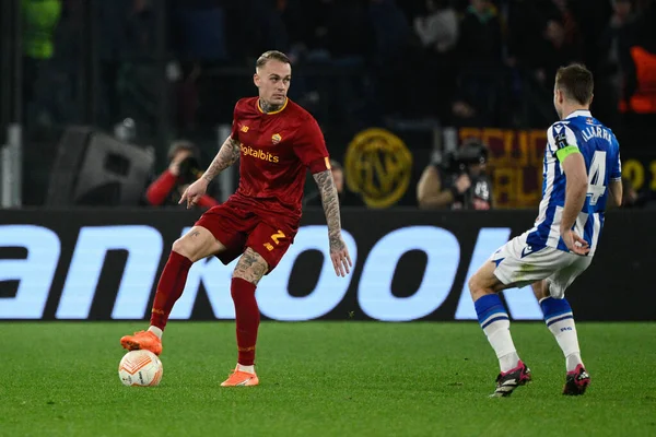
[{"label": "player in blue and white striped number 4 jersey", "polygon": [[593,88],[593,74],[585,67],[559,69],[553,104],[560,121],[547,132],[539,216],[530,231],[501,247],[469,281],[479,322],[501,368],[492,397],[511,395],[531,378],[497,295],[529,284],[565,355],[563,394],[583,394],[590,383],[564,293],[593,261],[606,209],[619,206],[622,199],[618,140],[589,111]]}]

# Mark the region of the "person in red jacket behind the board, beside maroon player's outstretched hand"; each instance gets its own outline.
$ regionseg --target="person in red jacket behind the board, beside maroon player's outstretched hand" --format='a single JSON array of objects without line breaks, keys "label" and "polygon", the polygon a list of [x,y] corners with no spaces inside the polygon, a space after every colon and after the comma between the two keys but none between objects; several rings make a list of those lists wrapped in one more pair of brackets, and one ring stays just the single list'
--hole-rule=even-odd
[{"label": "person in red jacket behind the board, beside maroon player's outstretched hand", "polygon": [[[148,204],[154,206],[177,205],[185,189],[202,176],[200,152],[188,141],[177,141],[168,151],[168,168],[155,179],[145,191]],[[197,203],[199,208],[219,204],[214,198],[204,194]]]}]

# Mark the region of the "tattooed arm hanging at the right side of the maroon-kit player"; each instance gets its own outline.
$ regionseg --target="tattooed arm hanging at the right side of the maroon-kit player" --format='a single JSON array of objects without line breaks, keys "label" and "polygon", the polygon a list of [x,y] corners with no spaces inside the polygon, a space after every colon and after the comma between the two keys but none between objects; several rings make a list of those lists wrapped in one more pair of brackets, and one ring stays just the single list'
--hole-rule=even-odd
[{"label": "tattooed arm hanging at the right side of the maroon-kit player", "polygon": [[330,241],[330,258],[335,267],[335,273],[338,276],[345,276],[353,265],[349,249],[341,236],[341,218],[339,215],[339,197],[332,173],[330,170],[319,172],[313,175],[319,192],[321,193],[321,203],[326,213],[326,223],[328,224],[328,239]]}]

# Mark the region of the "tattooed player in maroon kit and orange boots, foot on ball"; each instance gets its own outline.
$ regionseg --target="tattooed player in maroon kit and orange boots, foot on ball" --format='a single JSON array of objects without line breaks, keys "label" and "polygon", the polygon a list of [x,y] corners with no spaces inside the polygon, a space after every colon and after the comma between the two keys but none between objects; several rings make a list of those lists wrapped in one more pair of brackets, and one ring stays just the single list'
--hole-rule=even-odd
[{"label": "tattooed player in maroon kit and orange boots, foot on ball", "polygon": [[209,256],[216,256],[224,264],[239,257],[231,285],[237,326],[237,366],[221,386],[257,386],[254,365],[259,309],[255,288],[294,240],[301,221],[306,168],[313,173],[321,193],[335,272],[340,276],[349,273],[351,258],[341,237],[339,201],[324,135],[314,117],[286,97],[291,73],[290,60],[280,51],[267,51],[257,60],[254,82],[259,97],[237,102],[232,134],[203,176],[184,192],[180,203],[195,205],[208,184],[241,156],[239,187],[225,203],[207,211],[173,244],[157,284],[151,326],[148,331],[120,339],[125,349],[160,355],[162,332],[183,294],[191,264]]}]

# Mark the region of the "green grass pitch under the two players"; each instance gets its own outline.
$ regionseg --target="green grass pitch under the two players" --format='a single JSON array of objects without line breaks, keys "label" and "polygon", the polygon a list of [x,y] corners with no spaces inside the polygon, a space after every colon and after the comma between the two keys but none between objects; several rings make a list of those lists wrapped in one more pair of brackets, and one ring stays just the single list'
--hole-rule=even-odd
[{"label": "green grass pitch under the two players", "polygon": [[543,323],[512,323],[534,382],[507,399],[488,399],[496,359],[473,322],[263,322],[260,386],[221,388],[234,324],[172,321],[160,387],[124,387],[118,339],[143,324],[0,323],[0,436],[656,435],[656,323],[579,323],[577,398]]}]

